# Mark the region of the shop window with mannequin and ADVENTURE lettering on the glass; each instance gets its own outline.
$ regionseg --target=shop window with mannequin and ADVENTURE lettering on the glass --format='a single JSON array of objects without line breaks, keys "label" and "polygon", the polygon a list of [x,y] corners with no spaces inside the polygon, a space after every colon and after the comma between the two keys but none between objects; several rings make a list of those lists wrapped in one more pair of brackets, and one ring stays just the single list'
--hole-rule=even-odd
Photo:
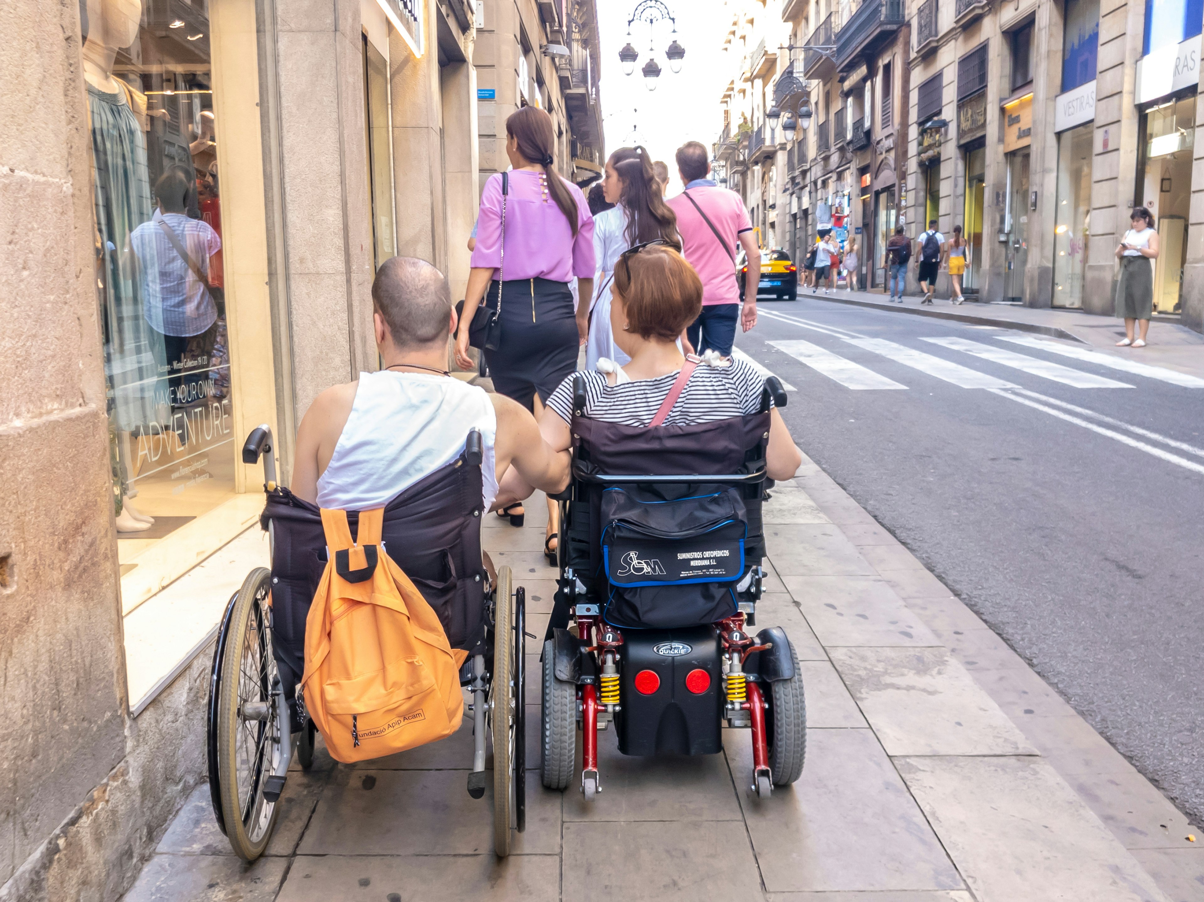
[{"label": "shop window with mannequin and ADVENTURE lettering on the glass", "polygon": [[[248,423],[276,418],[260,11],[243,0],[87,6],[95,284],[130,614],[262,508],[261,477],[238,458]],[[177,605],[154,641],[126,618],[131,706],[224,601]],[[182,623],[185,609],[202,623]]]}]

